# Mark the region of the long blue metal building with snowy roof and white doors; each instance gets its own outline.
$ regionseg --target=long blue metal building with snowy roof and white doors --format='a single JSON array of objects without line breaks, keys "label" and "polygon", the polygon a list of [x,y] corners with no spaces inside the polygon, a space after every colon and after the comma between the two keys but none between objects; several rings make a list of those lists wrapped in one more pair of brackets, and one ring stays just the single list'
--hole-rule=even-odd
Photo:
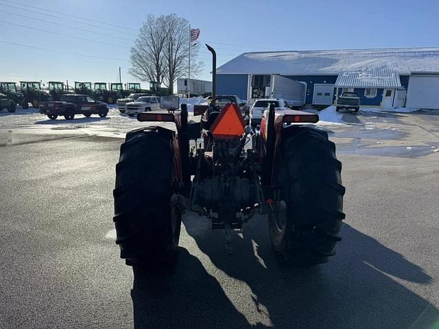
[{"label": "long blue metal building with snowy roof and white doors", "polygon": [[307,104],[355,91],[363,106],[439,108],[439,48],[243,53],[217,69],[217,94],[268,97],[275,74],[305,82]]}]

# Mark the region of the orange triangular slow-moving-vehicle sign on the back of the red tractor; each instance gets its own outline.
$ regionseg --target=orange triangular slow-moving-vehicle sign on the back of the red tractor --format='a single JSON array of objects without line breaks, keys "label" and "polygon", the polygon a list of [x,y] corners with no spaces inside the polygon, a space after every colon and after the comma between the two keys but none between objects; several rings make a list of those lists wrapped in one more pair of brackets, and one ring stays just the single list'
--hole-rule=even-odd
[{"label": "orange triangular slow-moving-vehicle sign on the back of the red tractor", "polygon": [[227,103],[211,127],[213,138],[236,138],[244,134],[244,118],[235,103]]}]

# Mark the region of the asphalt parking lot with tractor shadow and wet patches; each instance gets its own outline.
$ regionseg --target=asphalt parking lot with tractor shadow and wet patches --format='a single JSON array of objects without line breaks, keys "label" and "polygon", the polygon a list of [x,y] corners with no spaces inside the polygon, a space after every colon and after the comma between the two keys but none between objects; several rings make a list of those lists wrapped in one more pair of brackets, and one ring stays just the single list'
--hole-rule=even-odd
[{"label": "asphalt parking lot with tractor shadow and wet patches", "polygon": [[264,217],[227,256],[224,232],[189,213],[166,274],[119,258],[112,115],[4,119],[0,328],[439,328],[439,112],[340,115],[346,125],[322,126],[346,186],[329,263],[279,267]]}]

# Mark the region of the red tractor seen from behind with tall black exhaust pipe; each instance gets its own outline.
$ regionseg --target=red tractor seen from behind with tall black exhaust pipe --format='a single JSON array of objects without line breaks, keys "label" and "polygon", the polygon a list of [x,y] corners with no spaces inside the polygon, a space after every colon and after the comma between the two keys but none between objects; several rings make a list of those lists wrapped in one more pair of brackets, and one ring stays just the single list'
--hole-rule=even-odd
[{"label": "red tractor seen from behind with tall black exhaust pipe", "polygon": [[[209,106],[195,106],[194,116],[202,119],[189,123],[185,104],[176,113],[139,113],[139,121],[174,122],[177,132],[145,127],[129,132],[121,145],[113,193],[121,258],[132,266],[174,263],[182,212],[190,210],[225,230],[227,253],[231,230],[259,214],[268,219],[279,260],[300,267],[326,263],[344,219],[334,143],[313,125],[317,114],[278,114],[272,104],[253,132],[233,99],[216,108],[215,51],[207,47],[214,95]],[[178,97],[162,97],[161,106],[175,108],[175,102]]]}]

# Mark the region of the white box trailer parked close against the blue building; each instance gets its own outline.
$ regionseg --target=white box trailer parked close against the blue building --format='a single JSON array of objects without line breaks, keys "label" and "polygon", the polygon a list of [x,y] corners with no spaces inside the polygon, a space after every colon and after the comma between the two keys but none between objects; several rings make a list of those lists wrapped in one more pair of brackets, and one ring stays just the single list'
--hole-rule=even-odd
[{"label": "white box trailer parked close against the blue building", "polygon": [[[257,82],[256,80],[252,75],[249,76],[249,85],[251,85],[248,91],[252,101],[260,98],[282,98],[289,105],[298,108],[305,105],[307,95],[307,84],[305,82],[292,80],[278,74],[264,75],[263,79],[259,78]],[[254,86],[253,82],[258,84]]]}]

